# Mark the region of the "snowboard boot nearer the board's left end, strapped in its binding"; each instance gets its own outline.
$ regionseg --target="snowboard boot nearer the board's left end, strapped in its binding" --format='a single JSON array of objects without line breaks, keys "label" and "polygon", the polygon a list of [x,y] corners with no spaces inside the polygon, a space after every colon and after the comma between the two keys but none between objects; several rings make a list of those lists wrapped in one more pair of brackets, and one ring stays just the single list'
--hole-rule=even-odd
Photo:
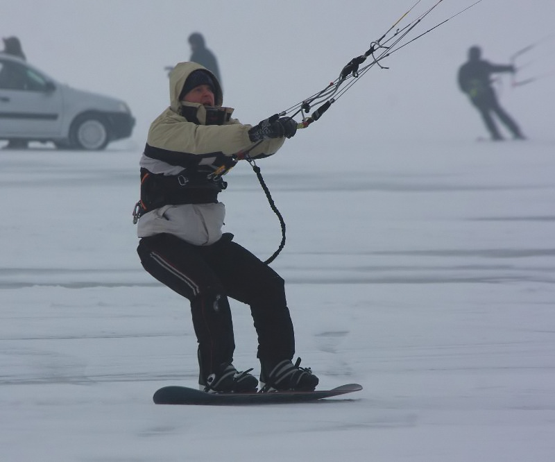
[{"label": "snowboard boot nearer the board's left end, strapped in its binding", "polygon": [[223,363],[205,379],[199,377],[198,388],[206,393],[256,393],[258,380],[251,370],[239,372],[233,364]]}]

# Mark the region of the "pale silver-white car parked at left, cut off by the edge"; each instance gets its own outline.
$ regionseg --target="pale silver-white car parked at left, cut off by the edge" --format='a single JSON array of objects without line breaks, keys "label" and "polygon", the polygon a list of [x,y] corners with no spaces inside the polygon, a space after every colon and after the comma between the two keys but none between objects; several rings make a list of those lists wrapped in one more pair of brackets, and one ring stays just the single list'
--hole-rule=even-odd
[{"label": "pale silver-white car parked at left, cut off by the edge", "polygon": [[0,53],[0,139],[98,151],[130,137],[134,125],[123,101],[58,83]]}]

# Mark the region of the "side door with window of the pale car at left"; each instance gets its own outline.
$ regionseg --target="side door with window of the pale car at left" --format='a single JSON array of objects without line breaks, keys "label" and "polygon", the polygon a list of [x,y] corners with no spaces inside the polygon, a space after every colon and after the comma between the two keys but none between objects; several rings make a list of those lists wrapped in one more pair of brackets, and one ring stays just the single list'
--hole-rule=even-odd
[{"label": "side door with window of the pale car at left", "polygon": [[62,90],[19,60],[0,58],[0,137],[60,135]]}]

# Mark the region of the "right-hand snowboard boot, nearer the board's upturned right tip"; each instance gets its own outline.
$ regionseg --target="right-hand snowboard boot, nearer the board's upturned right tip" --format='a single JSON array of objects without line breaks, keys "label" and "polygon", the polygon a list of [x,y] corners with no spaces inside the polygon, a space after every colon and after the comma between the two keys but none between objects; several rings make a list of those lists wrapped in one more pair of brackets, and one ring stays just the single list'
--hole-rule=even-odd
[{"label": "right-hand snowboard boot, nearer the board's upturned right tip", "polygon": [[312,391],[318,385],[318,377],[310,368],[301,368],[300,358],[293,364],[289,359],[280,361],[273,368],[261,361],[261,392],[268,391]]}]

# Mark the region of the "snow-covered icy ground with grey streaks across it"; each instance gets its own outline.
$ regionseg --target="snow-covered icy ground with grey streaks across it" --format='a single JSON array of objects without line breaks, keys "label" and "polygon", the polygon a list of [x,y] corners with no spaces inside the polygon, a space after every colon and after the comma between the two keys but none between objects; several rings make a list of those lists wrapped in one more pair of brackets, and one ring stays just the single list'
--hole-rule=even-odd
[{"label": "snow-covered icy ground with grey streaks across it", "polygon": [[[296,139],[258,162],[287,223],[273,267],[320,388],[364,391],[153,404],[196,383],[196,340],[135,253],[141,149],[4,150],[2,461],[553,460],[555,142]],[[268,257],[280,226],[254,173],[228,181],[226,230]],[[232,311],[235,364],[257,371],[248,307]]]}]

